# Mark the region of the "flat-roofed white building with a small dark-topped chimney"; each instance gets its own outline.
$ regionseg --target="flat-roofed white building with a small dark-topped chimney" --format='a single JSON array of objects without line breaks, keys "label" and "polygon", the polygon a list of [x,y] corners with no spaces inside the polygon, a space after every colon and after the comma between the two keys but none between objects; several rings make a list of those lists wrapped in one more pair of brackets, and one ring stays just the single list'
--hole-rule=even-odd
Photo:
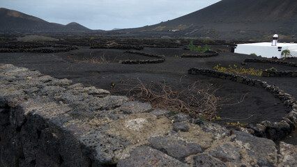
[{"label": "flat-roofed white building with a small dark-topped chimney", "polygon": [[234,50],[237,54],[257,54],[266,58],[282,58],[282,51],[288,49],[291,56],[297,57],[297,44],[296,43],[277,43],[278,35],[273,35],[272,42],[259,42],[250,44],[238,44]]}]

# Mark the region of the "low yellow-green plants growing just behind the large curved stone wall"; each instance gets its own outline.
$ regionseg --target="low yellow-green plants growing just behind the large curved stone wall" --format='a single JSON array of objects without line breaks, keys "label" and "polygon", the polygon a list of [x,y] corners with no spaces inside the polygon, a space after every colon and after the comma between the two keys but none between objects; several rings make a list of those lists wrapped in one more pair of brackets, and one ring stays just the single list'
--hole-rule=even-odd
[{"label": "low yellow-green plants growing just behind the large curved stone wall", "polygon": [[228,72],[234,74],[250,74],[261,76],[263,70],[255,70],[254,68],[244,68],[244,67],[237,67],[237,65],[229,65],[228,67],[222,67],[221,64],[215,65],[213,67],[214,70],[218,70],[220,72]]}]

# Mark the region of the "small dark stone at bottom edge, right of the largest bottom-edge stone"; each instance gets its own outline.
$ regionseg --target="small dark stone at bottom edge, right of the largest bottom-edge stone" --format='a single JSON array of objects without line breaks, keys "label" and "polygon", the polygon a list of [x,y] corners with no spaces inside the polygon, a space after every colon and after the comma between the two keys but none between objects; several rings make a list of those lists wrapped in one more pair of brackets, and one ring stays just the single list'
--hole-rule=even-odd
[{"label": "small dark stone at bottom edge, right of the largest bottom-edge stone", "polygon": [[225,167],[226,165],[222,162],[219,161],[218,159],[215,159],[211,157],[208,154],[201,154],[197,157],[194,157],[194,166],[195,167]]}]

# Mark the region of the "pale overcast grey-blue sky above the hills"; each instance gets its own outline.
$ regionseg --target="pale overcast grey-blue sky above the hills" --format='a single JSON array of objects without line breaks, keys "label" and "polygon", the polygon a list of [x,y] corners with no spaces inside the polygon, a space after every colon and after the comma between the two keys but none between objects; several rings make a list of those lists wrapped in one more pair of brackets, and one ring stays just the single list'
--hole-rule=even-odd
[{"label": "pale overcast grey-blue sky above the hills", "polygon": [[111,30],[158,24],[220,0],[0,0],[1,8],[47,22],[77,22],[89,29]]}]

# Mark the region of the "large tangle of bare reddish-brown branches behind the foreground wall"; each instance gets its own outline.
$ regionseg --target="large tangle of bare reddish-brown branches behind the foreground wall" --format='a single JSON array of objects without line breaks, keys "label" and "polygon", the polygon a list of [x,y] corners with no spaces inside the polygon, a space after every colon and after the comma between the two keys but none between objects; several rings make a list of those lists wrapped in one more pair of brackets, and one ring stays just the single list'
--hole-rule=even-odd
[{"label": "large tangle of bare reddish-brown branches behind the foreground wall", "polygon": [[[169,86],[165,81],[144,84],[139,79],[130,79],[124,85],[123,88],[114,88],[114,91],[126,92],[130,100],[149,102],[154,109],[188,113],[194,118],[203,117],[206,120],[216,120],[217,109],[229,101],[226,97],[215,96],[219,88],[213,88],[211,84],[202,86],[199,81],[183,90]],[[243,102],[243,99],[244,97],[239,102]]]}]

